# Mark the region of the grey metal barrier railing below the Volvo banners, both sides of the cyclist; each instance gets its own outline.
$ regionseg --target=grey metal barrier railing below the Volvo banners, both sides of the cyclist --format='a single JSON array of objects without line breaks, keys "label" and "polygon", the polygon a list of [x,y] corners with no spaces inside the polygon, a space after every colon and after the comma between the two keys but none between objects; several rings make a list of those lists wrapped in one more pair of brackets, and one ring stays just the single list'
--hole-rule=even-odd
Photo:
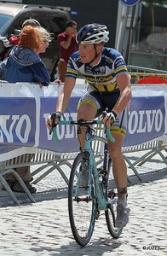
[{"label": "grey metal barrier railing below the Volvo banners, both sides of the cyclist", "polygon": [[[95,127],[95,131],[98,136],[104,137],[104,130],[102,125],[100,127]],[[104,152],[103,145],[101,142],[95,141],[93,147],[95,152],[96,163],[101,164],[102,154]],[[164,161],[164,163],[167,165],[167,159],[164,157],[164,154],[162,153],[163,150],[165,150],[165,153],[166,153],[167,151],[166,147],[167,147],[167,142],[164,142],[161,140],[155,140],[152,142],[143,143],[141,145],[137,145],[133,147],[124,147],[123,148],[124,160],[127,162],[128,166],[130,166],[131,170],[135,173],[135,176],[139,179],[139,181],[142,182],[142,177],[140,173],[137,172],[135,166],[143,165],[143,163],[145,163],[147,160],[152,159],[155,154],[159,154],[162,160]],[[147,150],[147,153],[143,154],[133,163],[130,161],[130,159],[127,156],[128,153],[135,153],[135,152],[144,151],[144,150]],[[66,182],[66,185],[68,186],[68,177],[66,177],[66,174],[63,171],[63,169],[64,169],[64,166],[68,166],[69,168],[72,167],[72,160],[74,160],[77,154],[78,152],[72,153],[72,154],[62,153],[61,155],[57,155],[55,154],[55,152],[40,150],[40,153],[20,155],[18,157],[15,157],[14,159],[0,162],[0,180],[3,183],[5,189],[8,191],[14,203],[17,205],[20,205],[19,201],[14,195],[14,192],[9,188],[8,183],[5,181],[3,177],[3,175],[6,173],[14,174],[14,177],[18,179],[20,185],[25,190],[29,200],[31,202],[35,202],[33,196],[30,194],[29,190],[26,188],[25,183],[22,181],[22,179],[17,174],[17,172],[14,172],[14,168],[21,167],[21,166],[40,165],[39,167],[37,167],[35,171],[32,172],[32,177],[33,177],[32,183],[34,184],[40,182],[43,179],[43,177],[46,177],[47,175],[49,175],[50,172],[57,170],[60,173],[60,176]],[[40,172],[42,173],[41,175],[40,175]],[[38,176],[37,178],[36,178],[36,175]],[[131,179],[129,176],[128,176],[128,182],[131,183]]]}]

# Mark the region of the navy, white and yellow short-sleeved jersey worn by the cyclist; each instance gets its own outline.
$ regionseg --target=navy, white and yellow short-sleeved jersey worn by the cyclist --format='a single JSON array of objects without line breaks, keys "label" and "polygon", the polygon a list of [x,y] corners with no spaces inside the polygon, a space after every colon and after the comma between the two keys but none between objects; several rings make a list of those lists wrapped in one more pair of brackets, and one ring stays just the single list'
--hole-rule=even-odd
[{"label": "navy, white and yellow short-sleeved jersey worn by the cyclist", "polygon": [[111,93],[118,90],[116,76],[120,73],[128,73],[123,56],[117,49],[104,47],[95,66],[83,64],[78,51],[73,53],[68,61],[66,77],[77,79],[78,74],[82,74],[92,90]]}]

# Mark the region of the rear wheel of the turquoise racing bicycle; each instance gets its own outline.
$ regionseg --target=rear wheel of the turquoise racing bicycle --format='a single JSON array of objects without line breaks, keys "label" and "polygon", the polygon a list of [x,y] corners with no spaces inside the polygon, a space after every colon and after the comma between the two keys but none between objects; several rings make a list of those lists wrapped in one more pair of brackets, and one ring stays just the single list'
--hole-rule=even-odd
[{"label": "rear wheel of the turquoise racing bicycle", "polygon": [[[114,192],[114,187],[112,185],[109,186],[109,177],[111,179],[111,176],[112,175],[109,175],[110,174],[110,171],[111,171],[111,167],[112,167],[112,160],[110,159],[108,161],[108,170],[109,170],[109,173],[108,173],[108,177],[107,177],[107,190],[106,190],[106,197],[107,197],[107,201],[110,201],[111,199],[113,199],[115,197],[115,192]],[[113,179],[113,178],[112,178]],[[109,189],[111,191],[111,195],[109,196]],[[115,216],[117,214],[117,203],[114,203],[113,205],[111,205],[110,208],[107,209],[107,211],[105,211],[105,217],[106,217],[106,221],[107,221],[107,228],[108,228],[108,231],[110,233],[110,235],[113,237],[113,238],[118,238],[122,231],[123,231],[123,228],[117,228],[115,226]]]}]

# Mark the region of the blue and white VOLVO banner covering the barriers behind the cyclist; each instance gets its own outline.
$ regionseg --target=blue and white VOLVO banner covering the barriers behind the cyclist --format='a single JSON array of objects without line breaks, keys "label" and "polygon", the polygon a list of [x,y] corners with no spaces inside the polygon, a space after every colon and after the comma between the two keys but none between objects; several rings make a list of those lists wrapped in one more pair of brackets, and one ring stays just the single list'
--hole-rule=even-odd
[{"label": "blue and white VOLVO banner covering the barriers behind the cyclist", "polygon": [[[39,88],[38,84],[0,84],[0,161],[20,154],[78,152],[76,127],[58,125],[60,143],[45,126],[49,113],[62,89],[56,84]],[[76,84],[63,119],[76,119],[80,96],[86,84]],[[132,85],[130,119],[124,147],[155,140],[166,134],[166,85]]]}]

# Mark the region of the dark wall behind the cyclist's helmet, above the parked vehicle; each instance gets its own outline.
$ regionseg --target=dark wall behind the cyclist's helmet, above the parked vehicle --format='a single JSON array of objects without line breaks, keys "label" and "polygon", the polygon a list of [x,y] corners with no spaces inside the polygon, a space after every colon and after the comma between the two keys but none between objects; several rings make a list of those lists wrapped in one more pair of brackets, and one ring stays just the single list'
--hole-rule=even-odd
[{"label": "dark wall behind the cyclist's helmet, above the parked vehicle", "polygon": [[115,46],[118,0],[23,0],[22,2],[61,7],[78,23],[78,29],[89,23],[105,24],[110,32],[107,46]]}]

